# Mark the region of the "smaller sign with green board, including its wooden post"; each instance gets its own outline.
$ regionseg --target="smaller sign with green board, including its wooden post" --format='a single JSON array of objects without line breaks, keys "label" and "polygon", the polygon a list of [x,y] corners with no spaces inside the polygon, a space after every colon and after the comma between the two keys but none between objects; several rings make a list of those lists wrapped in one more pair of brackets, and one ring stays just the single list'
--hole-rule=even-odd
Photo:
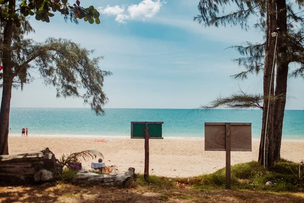
[{"label": "smaller sign with green board, including its wooden post", "polygon": [[162,124],[164,122],[131,122],[131,139],[144,139],[144,174],[149,177],[149,139],[164,139]]}]

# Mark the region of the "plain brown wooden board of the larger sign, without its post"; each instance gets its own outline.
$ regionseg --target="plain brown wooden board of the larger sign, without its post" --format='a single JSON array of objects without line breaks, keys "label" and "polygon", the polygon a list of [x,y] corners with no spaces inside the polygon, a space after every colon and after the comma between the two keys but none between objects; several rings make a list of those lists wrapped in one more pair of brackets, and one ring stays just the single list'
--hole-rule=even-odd
[{"label": "plain brown wooden board of the larger sign, without its post", "polygon": [[[251,123],[230,123],[231,151],[251,151]],[[226,123],[205,123],[205,151],[226,150]]]}]

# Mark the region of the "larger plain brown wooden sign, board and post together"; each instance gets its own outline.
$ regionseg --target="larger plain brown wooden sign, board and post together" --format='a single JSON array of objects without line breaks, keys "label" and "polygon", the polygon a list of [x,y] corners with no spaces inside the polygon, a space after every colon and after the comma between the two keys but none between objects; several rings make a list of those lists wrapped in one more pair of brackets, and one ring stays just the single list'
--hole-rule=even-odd
[{"label": "larger plain brown wooden sign, board and post together", "polygon": [[226,151],[226,188],[230,188],[231,151],[252,151],[251,123],[205,123],[205,151]]}]

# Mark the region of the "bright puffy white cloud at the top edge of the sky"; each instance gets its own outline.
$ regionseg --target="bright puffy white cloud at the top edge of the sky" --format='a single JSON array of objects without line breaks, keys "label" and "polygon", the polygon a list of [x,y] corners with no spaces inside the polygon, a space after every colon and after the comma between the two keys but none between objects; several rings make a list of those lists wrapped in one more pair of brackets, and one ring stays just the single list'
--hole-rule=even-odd
[{"label": "bright puffy white cloud at the top edge of the sky", "polygon": [[143,0],[139,4],[133,4],[128,6],[127,10],[121,6],[109,5],[106,8],[99,7],[98,10],[102,14],[116,15],[116,21],[119,23],[126,23],[127,20],[144,20],[146,18],[152,18],[160,10],[163,4],[166,2],[161,2],[161,0]]}]

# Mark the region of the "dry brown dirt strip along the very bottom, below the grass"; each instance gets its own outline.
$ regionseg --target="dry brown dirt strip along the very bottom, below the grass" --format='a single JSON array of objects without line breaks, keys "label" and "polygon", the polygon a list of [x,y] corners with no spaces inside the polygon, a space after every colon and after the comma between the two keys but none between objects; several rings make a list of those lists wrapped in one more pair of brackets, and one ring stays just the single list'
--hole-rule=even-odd
[{"label": "dry brown dirt strip along the very bottom, below the grass", "polygon": [[195,190],[191,188],[104,188],[70,184],[0,187],[0,202],[304,202],[302,192],[270,193],[249,190]]}]

